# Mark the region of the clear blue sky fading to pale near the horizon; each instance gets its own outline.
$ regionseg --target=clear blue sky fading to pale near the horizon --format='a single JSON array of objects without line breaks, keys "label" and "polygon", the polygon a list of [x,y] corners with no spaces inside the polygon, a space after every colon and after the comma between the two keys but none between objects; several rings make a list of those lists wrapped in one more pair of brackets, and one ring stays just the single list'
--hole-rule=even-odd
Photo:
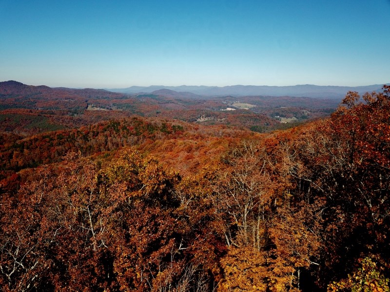
[{"label": "clear blue sky fading to pale near the horizon", "polygon": [[390,82],[390,0],[0,0],[0,81]]}]

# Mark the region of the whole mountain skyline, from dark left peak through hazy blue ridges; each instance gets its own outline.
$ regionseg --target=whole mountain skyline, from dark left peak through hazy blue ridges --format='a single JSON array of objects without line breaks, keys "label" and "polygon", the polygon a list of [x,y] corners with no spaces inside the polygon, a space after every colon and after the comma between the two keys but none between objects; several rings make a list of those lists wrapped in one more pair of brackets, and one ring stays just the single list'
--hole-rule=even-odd
[{"label": "whole mountain skyline, from dark left peak through hazy blue ridges", "polygon": [[[321,99],[342,99],[348,91],[357,91],[360,94],[365,92],[381,92],[381,84],[368,86],[318,86],[318,85],[295,85],[295,86],[254,86],[254,85],[234,85],[234,86],[132,86],[122,89],[69,89],[50,88],[47,86],[25,85],[17,81],[0,82],[0,94],[44,94],[55,95],[56,92],[66,92],[70,95],[83,97],[100,98],[120,98],[121,94],[154,94],[172,98],[199,98],[218,96],[292,96],[292,97],[312,97]],[[116,92],[116,93],[114,93]],[[63,94],[63,93],[62,93]]]}]

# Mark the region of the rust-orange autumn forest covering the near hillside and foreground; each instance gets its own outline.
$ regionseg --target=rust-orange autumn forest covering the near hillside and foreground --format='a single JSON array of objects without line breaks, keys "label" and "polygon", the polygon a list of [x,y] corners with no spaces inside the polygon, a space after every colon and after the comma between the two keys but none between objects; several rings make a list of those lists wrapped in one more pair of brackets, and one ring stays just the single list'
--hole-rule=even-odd
[{"label": "rust-orange autumn forest covering the near hillside and foreground", "polygon": [[4,291],[390,291],[390,86],[267,133],[58,110],[1,128]]}]

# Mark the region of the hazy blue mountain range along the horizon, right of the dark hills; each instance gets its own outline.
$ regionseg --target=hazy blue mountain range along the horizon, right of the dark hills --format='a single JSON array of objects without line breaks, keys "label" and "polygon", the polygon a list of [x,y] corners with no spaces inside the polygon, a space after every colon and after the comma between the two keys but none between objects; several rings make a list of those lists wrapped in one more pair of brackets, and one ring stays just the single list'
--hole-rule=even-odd
[{"label": "hazy blue mountain range along the horizon, right of the dark hills", "polygon": [[[122,89],[107,89],[109,91],[136,94],[152,93],[161,90],[170,90],[181,93],[182,95],[196,94],[200,96],[249,96],[249,95],[267,95],[267,96],[305,96],[314,98],[335,98],[340,99],[348,91],[357,91],[363,94],[367,91],[382,91],[383,84],[368,86],[318,86],[318,85],[295,85],[295,86],[254,86],[254,85],[234,85],[234,86],[132,86]],[[164,91],[163,91],[164,92]],[[167,93],[167,91],[165,91]]]}]

